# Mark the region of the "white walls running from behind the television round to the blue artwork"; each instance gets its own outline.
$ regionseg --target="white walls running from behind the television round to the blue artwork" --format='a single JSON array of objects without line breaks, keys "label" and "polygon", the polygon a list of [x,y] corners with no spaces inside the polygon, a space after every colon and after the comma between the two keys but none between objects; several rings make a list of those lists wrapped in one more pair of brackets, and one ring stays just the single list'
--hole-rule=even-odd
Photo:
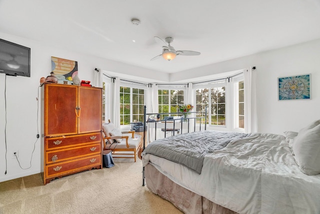
[{"label": "white walls running from behind the television round to the blue artwork", "polygon": [[[48,44],[8,34],[0,33],[0,37],[31,47],[31,77],[6,76],[6,175],[4,175],[5,76],[0,74],[0,181],[40,172],[40,140],[35,143],[31,167],[28,167],[30,166],[31,152],[37,134],[36,97],[39,79],[41,76],[49,75],[51,56],[78,61],[79,77],[85,80],[92,80],[94,67],[115,73],[124,73],[125,75],[131,74],[144,78],[156,78],[159,82],[174,82],[181,77],[184,77],[187,81],[187,79],[195,79],[199,75],[208,76],[256,66],[259,132],[282,134],[285,130],[298,131],[312,120],[320,119],[318,110],[318,106],[320,106],[320,86],[317,85],[317,82],[320,82],[320,39],[168,75],[121,62],[72,52],[64,48],[52,47]],[[312,98],[310,100],[278,101],[277,77],[304,73],[311,73]],[[40,118],[38,120],[40,121]],[[39,121],[38,125],[40,127]],[[21,166],[28,169],[20,169],[18,162],[11,157],[13,151],[16,150],[18,150]]]}]

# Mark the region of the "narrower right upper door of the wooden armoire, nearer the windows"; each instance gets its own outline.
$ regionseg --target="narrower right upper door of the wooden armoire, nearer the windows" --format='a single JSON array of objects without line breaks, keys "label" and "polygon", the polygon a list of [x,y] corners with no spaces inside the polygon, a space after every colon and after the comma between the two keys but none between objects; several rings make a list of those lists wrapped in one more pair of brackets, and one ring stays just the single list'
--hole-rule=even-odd
[{"label": "narrower right upper door of the wooden armoire, nearer the windows", "polygon": [[101,130],[102,89],[98,87],[79,87],[78,133]]}]

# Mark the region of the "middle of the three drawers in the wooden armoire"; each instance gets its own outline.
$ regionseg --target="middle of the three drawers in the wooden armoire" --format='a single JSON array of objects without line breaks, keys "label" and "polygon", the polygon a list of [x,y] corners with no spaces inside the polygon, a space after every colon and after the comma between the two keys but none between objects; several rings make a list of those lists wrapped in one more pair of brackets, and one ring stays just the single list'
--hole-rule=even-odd
[{"label": "middle of the three drawers in the wooden armoire", "polygon": [[89,156],[93,154],[101,154],[100,143],[69,147],[59,150],[49,150],[45,152],[45,164]]}]

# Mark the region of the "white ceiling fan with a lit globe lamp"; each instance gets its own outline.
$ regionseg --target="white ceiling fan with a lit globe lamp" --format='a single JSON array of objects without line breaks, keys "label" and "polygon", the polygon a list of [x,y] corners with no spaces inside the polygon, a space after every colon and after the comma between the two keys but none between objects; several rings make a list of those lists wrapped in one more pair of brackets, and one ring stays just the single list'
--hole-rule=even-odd
[{"label": "white ceiling fan with a lit globe lamp", "polygon": [[154,40],[157,43],[165,44],[162,46],[162,53],[160,55],[157,55],[150,60],[155,60],[162,56],[164,59],[170,61],[175,58],[176,55],[200,55],[200,52],[191,51],[191,50],[175,50],[174,47],[170,45],[170,43],[173,41],[172,37],[166,37],[163,41],[161,38],[154,36]]}]

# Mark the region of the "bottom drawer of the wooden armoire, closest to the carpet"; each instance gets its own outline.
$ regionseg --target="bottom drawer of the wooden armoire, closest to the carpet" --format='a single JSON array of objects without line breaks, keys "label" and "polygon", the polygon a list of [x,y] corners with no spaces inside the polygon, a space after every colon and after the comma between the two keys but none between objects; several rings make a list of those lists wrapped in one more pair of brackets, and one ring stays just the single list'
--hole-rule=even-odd
[{"label": "bottom drawer of the wooden armoire, closest to the carpet", "polygon": [[76,171],[81,171],[85,168],[101,165],[101,155],[92,155],[83,158],[63,161],[60,163],[46,165],[46,178],[70,174]]}]

